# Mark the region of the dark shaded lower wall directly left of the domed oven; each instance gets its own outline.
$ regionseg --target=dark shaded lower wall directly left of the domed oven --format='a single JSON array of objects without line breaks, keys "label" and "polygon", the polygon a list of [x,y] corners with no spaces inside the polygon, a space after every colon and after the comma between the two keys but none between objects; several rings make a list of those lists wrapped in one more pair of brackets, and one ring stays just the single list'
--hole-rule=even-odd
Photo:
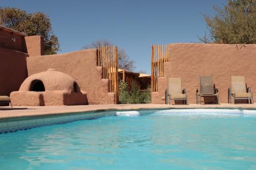
[{"label": "dark shaded lower wall directly left of the domed oven", "polygon": [[28,77],[26,53],[0,47],[0,95],[17,91]]}]

